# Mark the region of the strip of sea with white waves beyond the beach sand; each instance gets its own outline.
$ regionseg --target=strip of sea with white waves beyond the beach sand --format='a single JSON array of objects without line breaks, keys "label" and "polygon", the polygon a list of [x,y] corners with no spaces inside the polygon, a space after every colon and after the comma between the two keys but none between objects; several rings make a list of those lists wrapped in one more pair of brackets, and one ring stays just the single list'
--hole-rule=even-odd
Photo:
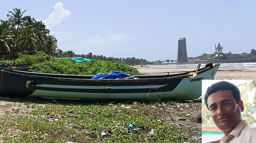
[{"label": "strip of sea with white waves beyond the beach sand", "polygon": [[[168,64],[168,65],[147,65],[148,67],[177,67],[177,68],[197,68],[198,64]],[[201,64],[200,68],[206,64]],[[256,63],[221,63],[219,68],[229,69],[256,69]]]}]

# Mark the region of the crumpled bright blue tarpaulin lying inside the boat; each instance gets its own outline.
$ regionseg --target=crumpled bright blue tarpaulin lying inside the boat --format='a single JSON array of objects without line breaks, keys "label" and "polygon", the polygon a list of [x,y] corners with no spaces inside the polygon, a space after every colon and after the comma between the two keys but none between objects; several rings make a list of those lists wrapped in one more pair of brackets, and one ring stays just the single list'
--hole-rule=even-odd
[{"label": "crumpled bright blue tarpaulin lying inside the boat", "polygon": [[125,74],[119,71],[115,71],[112,73],[99,73],[92,77],[91,79],[125,79],[125,77],[131,77],[129,74]]}]

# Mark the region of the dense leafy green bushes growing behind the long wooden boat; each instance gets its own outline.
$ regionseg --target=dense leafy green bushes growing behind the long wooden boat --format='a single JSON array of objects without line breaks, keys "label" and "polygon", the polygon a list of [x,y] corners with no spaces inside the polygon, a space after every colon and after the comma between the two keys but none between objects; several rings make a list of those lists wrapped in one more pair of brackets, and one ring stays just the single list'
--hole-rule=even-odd
[{"label": "dense leafy green bushes growing behind the long wooden boat", "polygon": [[[48,59],[46,59],[48,57]],[[40,60],[46,59],[44,62]],[[37,51],[35,55],[18,54],[17,64],[26,64],[30,72],[68,75],[96,75],[98,73],[110,73],[120,71],[130,75],[143,75],[135,67],[125,63],[112,61],[91,61],[77,63],[73,59],[56,59],[43,51]],[[13,61],[0,61],[0,65],[12,65]]]}]

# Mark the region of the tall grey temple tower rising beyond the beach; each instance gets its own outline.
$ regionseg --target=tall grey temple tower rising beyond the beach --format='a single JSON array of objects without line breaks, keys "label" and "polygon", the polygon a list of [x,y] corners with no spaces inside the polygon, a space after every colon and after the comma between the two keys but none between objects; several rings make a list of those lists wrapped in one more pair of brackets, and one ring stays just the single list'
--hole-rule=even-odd
[{"label": "tall grey temple tower rising beyond the beach", "polygon": [[188,62],[187,60],[187,46],[186,46],[186,38],[179,38],[178,40],[178,62]]}]

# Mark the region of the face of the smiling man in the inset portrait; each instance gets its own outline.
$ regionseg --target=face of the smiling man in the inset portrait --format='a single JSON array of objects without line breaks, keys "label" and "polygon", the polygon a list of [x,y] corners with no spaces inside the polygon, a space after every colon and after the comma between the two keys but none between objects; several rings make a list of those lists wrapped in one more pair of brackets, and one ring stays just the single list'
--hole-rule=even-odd
[{"label": "face of the smiling man in the inset portrait", "polygon": [[210,115],[220,130],[230,130],[241,121],[243,101],[237,104],[230,90],[217,91],[208,96]]}]

